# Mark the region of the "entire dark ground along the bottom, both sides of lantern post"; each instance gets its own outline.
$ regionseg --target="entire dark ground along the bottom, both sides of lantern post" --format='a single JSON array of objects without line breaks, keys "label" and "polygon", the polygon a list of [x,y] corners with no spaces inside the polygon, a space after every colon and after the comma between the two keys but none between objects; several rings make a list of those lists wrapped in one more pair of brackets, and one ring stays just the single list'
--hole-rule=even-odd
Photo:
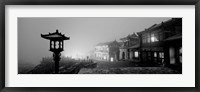
[{"label": "entire dark ground along the bottom, both sides of lantern post", "polygon": [[[23,69],[25,70],[25,69]],[[55,74],[54,62],[44,58],[39,65],[30,71],[19,74]],[[138,62],[118,61],[105,62],[93,60],[74,60],[62,58],[59,67],[60,74],[181,74],[177,70],[162,66],[141,66]]]}]

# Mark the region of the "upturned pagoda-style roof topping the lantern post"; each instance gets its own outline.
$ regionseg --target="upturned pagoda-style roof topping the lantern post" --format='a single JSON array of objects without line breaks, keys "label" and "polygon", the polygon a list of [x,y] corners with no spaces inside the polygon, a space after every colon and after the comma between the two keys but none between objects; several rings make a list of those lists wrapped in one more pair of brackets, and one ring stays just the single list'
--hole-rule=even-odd
[{"label": "upturned pagoda-style roof topping the lantern post", "polygon": [[66,37],[64,34],[59,33],[58,29],[54,33],[41,34],[41,37],[48,40],[69,40],[70,39],[70,37]]}]

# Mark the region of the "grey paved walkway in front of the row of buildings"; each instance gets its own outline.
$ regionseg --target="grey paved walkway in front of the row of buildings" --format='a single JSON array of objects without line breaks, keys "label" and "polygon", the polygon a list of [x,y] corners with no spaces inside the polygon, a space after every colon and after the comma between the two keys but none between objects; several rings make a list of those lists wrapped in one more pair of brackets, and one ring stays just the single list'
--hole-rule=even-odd
[{"label": "grey paved walkway in front of the row of buildings", "polygon": [[82,68],[79,74],[181,74],[167,67]]}]

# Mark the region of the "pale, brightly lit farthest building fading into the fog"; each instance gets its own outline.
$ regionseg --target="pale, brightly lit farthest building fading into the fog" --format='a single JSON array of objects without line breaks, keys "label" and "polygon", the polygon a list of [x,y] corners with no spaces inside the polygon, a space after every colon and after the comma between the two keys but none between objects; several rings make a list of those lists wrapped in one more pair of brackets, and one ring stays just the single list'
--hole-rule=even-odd
[{"label": "pale, brightly lit farthest building fading into the fog", "polygon": [[95,46],[94,57],[101,61],[118,61],[120,44],[115,40],[99,43]]}]

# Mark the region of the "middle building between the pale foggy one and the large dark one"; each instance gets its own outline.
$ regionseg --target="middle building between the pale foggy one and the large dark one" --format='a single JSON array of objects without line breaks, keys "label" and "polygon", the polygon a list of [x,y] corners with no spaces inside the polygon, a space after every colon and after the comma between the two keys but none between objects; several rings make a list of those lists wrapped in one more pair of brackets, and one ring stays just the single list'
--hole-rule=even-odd
[{"label": "middle building between the pale foggy one and the large dark one", "polygon": [[138,61],[139,60],[139,36],[137,33],[121,38],[120,60]]}]

